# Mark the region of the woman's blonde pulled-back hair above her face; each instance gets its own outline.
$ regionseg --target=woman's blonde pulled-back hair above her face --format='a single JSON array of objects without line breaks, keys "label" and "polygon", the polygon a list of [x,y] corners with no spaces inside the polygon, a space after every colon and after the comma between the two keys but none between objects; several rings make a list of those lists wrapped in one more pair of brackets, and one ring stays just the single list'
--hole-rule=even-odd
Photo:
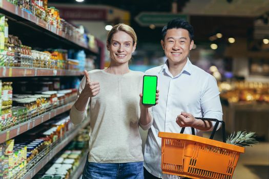
[{"label": "woman's blonde pulled-back hair above her face", "polygon": [[126,25],[126,24],[118,24],[115,25],[108,33],[108,37],[107,37],[107,41],[110,43],[112,36],[117,33],[118,31],[123,31],[126,32],[128,35],[130,35],[133,39],[133,45],[136,43],[137,41],[137,36],[136,33],[134,31],[133,28],[131,28],[130,26]]}]

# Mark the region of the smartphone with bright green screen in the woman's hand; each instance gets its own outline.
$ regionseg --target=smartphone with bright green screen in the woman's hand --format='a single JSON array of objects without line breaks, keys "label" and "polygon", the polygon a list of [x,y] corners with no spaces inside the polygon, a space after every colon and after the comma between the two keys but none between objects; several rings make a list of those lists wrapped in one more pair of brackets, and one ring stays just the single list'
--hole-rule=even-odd
[{"label": "smartphone with bright green screen in the woman's hand", "polygon": [[142,104],[155,105],[156,91],[157,91],[157,76],[144,75],[143,76],[143,91]]}]

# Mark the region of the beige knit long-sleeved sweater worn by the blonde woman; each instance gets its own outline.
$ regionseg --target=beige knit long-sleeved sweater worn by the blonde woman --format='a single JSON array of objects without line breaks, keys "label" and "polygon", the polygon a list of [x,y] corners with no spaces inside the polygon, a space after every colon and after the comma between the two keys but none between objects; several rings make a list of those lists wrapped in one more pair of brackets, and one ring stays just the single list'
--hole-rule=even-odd
[{"label": "beige knit long-sleeved sweater worn by the blonde woman", "polygon": [[[89,98],[90,126],[89,162],[127,163],[143,161],[139,135],[139,94],[142,93],[143,73],[130,71],[114,75],[104,70],[89,72],[91,81],[100,83],[99,94]],[[78,96],[86,83],[84,77],[78,89]],[[88,108],[88,106],[86,107]],[[148,129],[151,123],[140,126]],[[86,117],[86,111],[71,108],[70,119],[74,124]]]}]

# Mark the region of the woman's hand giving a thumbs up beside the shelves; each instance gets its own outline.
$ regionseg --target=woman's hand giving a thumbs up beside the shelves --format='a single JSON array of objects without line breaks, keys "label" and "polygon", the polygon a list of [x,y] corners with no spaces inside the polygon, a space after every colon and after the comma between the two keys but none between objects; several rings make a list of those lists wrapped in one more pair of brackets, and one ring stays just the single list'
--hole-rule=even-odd
[{"label": "woman's hand giving a thumbs up beside the shelves", "polygon": [[89,97],[94,97],[100,91],[100,84],[98,81],[91,81],[89,73],[86,70],[84,71],[84,74],[86,77],[86,84],[85,84],[83,91],[85,91],[85,93]]}]

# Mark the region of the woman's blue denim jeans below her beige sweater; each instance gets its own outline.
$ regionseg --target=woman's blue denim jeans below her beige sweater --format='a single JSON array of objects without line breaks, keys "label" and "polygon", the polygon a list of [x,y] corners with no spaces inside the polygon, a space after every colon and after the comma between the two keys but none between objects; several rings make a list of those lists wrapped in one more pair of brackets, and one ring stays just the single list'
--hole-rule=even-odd
[{"label": "woman's blue denim jeans below her beige sweater", "polygon": [[143,162],[131,163],[90,163],[88,158],[82,179],[143,179]]}]

